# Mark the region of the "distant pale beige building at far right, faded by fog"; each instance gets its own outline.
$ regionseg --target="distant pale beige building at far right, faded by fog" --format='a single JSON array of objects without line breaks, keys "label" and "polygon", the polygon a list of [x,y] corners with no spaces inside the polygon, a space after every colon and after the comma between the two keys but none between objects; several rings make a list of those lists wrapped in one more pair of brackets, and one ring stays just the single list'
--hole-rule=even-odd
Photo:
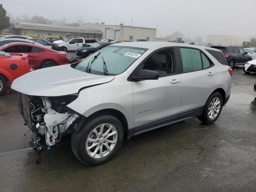
[{"label": "distant pale beige building at far right, faded by fog", "polygon": [[242,45],[244,41],[250,42],[250,38],[232,35],[208,35],[206,42],[212,43],[212,45]]}]

